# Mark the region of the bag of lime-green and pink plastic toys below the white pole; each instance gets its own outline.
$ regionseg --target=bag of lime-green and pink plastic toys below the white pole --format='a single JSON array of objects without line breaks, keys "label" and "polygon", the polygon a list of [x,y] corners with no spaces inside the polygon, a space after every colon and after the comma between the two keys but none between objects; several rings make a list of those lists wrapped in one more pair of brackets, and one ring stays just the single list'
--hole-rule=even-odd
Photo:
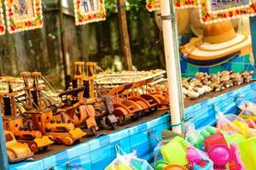
[{"label": "bag of lime-green and pink plastic toys below the white pole", "polygon": [[[185,139],[177,136],[170,140],[169,143],[160,143],[155,148],[155,169],[168,169],[167,167],[194,169],[194,170],[210,170],[213,169],[213,162],[201,150],[195,147]],[[161,158],[161,159],[160,159]]]}]

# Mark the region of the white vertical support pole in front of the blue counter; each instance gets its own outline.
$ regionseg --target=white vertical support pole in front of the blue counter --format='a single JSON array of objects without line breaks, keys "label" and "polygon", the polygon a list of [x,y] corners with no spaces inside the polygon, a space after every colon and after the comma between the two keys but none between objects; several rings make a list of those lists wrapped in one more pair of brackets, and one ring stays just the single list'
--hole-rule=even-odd
[{"label": "white vertical support pole in front of the blue counter", "polygon": [[[172,4],[171,4],[172,5]],[[172,15],[170,8],[170,0],[160,0],[160,11],[162,18],[163,37],[166,54],[166,74],[168,81],[168,92],[170,99],[170,111],[172,120],[172,131],[182,133],[181,130],[181,116],[183,116],[183,104],[179,102],[182,98],[180,84],[179,65],[177,65],[177,53],[175,53],[175,33],[172,32]]]}]

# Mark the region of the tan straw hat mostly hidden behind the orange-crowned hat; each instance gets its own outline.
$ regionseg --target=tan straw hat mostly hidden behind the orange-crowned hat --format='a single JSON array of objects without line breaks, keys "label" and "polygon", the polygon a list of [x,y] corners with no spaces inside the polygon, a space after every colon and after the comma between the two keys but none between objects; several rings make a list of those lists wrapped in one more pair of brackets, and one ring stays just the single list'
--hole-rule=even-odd
[{"label": "tan straw hat mostly hidden behind the orange-crowned hat", "polygon": [[[203,34],[203,24],[200,20],[200,14],[198,8],[193,8],[190,13],[190,29],[195,34],[196,37],[202,37]],[[232,26],[235,30],[238,28],[238,22],[239,20],[230,20],[232,23]]]}]

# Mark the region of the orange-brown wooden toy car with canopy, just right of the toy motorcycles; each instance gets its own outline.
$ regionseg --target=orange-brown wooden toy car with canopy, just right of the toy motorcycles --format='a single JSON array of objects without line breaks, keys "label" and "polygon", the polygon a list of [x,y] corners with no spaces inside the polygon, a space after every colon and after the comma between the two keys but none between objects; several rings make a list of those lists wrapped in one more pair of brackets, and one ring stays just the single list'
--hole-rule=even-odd
[{"label": "orange-brown wooden toy car with canopy, just right of the toy motorcycles", "polygon": [[113,96],[113,115],[117,116],[119,125],[123,125],[127,117],[137,119],[143,115],[142,105],[129,100],[126,90],[131,89],[132,83],[126,83],[109,91],[108,95]]}]

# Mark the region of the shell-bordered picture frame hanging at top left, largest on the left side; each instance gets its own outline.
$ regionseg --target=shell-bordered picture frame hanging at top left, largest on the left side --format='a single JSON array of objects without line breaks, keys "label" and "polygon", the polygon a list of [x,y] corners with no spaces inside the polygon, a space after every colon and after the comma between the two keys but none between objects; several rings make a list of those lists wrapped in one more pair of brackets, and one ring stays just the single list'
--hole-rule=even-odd
[{"label": "shell-bordered picture frame hanging at top left, largest on the left side", "polygon": [[6,0],[6,20],[10,34],[43,27],[41,0]]}]

